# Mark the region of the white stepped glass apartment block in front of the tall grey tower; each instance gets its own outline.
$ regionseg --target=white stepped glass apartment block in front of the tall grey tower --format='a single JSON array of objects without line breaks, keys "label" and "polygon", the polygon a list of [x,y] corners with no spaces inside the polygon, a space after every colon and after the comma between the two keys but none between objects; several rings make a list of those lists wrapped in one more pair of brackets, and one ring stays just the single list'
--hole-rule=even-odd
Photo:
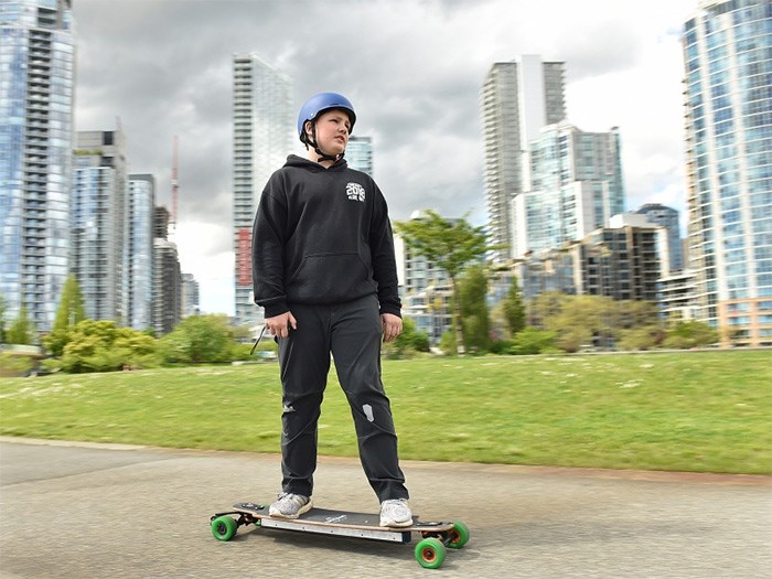
[{"label": "white stepped glass apartment block in front of the tall grey tower", "polygon": [[615,128],[585,132],[566,121],[549,125],[526,150],[523,189],[512,204],[513,257],[581,239],[624,211]]}]

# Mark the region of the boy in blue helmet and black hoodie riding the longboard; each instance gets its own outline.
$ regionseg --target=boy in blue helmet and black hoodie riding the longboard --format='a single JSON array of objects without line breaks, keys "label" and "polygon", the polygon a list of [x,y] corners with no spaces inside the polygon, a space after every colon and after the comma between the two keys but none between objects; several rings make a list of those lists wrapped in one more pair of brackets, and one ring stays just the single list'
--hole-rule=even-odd
[{"label": "boy in blue helmet and black hoodie riding the longboard", "polygon": [[380,340],[401,333],[401,303],[386,201],[343,160],[355,121],[342,95],[311,97],[298,117],[308,159],[287,158],[255,216],[255,302],[279,344],[283,401],[282,492],[270,515],[297,518],[313,505],[317,422],[332,353],[380,525],[404,527],[412,514],[380,380]]}]

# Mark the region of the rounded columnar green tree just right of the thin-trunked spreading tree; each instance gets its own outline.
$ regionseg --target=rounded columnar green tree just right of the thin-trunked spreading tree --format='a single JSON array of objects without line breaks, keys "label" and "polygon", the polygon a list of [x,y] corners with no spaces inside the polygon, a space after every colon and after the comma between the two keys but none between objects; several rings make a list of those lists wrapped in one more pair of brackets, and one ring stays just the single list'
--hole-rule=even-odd
[{"label": "rounded columnar green tree just right of the thin-trunked spreading tree", "polygon": [[459,299],[463,322],[464,349],[486,351],[491,343],[491,320],[487,309],[487,276],[480,264],[464,269],[459,280]]}]

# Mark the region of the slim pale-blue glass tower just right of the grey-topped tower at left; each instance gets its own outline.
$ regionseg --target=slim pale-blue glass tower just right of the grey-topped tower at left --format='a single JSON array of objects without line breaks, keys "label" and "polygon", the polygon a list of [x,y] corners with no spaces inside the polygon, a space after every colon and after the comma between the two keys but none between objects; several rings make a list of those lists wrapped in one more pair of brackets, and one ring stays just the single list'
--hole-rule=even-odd
[{"label": "slim pale-blue glass tower just right of the grey-topped tower at left", "polygon": [[153,215],[156,178],[129,175],[126,224],[128,227],[128,309],[127,321],[135,330],[152,328],[153,298]]}]

